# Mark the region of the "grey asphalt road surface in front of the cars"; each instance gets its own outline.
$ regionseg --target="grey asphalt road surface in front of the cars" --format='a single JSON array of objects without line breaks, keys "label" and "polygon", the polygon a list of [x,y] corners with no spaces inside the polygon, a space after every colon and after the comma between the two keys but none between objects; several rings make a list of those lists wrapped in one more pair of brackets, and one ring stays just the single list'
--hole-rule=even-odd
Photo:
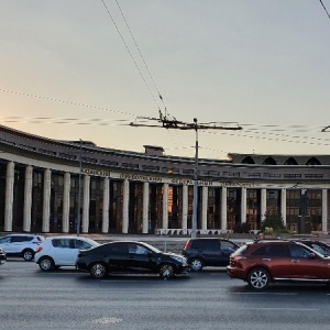
[{"label": "grey asphalt road surface in front of the cars", "polygon": [[156,275],[92,279],[73,267],[0,266],[0,329],[329,329],[324,286],[254,292],[223,268],[172,280]]}]

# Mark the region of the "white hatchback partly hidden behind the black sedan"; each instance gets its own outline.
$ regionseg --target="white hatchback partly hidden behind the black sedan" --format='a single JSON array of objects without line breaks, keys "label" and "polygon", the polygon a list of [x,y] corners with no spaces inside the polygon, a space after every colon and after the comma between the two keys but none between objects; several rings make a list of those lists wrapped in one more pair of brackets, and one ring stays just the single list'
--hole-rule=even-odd
[{"label": "white hatchback partly hidden behind the black sedan", "polygon": [[44,272],[61,266],[75,266],[79,250],[88,250],[100,245],[98,242],[82,237],[47,238],[37,249],[34,261]]}]

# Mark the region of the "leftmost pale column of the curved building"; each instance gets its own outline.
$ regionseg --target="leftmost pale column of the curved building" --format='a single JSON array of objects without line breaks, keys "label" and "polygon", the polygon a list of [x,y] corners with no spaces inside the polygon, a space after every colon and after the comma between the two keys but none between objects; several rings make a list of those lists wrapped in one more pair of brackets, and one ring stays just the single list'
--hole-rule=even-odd
[{"label": "leftmost pale column of the curved building", "polygon": [[13,207],[13,185],[14,185],[14,163],[7,164],[6,174],[6,202],[4,202],[4,231],[12,231],[12,207]]}]

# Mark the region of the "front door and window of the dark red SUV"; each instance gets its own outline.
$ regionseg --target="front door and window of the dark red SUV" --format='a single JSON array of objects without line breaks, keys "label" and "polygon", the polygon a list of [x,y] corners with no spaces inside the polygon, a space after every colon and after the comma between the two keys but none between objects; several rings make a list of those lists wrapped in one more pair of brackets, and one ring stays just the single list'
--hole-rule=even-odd
[{"label": "front door and window of the dark red SUV", "polygon": [[329,260],[314,253],[314,251],[298,245],[289,245],[290,271],[293,278],[329,279]]}]

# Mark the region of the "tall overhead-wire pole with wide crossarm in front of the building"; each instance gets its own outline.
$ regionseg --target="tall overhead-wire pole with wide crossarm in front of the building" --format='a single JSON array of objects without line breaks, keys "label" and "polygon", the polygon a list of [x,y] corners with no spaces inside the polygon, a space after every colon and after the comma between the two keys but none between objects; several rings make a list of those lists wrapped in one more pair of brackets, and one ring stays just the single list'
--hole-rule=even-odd
[{"label": "tall overhead-wire pole with wide crossarm in front of the building", "polygon": [[194,123],[186,123],[176,119],[169,120],[163,117],[161,113],[160,119],[157,118],[143,118],[150,121],[157,121],[158,124],[150,123],[138,123],[131,122],[131,127],[144,127],[144,128],[164,128],[164,129],[176,129],[176,130],[195,130],[196,142],[195,142],[195,168],[194,168],[194,199],[193,199],[193,221],[191,221],[191,238],[196,238],[197,234],[197,210],[198,210],[198,130],[242,130],[241,127],[229,128],[220,127],[215,124],[198,124],[197,118],[194,118]]}]

